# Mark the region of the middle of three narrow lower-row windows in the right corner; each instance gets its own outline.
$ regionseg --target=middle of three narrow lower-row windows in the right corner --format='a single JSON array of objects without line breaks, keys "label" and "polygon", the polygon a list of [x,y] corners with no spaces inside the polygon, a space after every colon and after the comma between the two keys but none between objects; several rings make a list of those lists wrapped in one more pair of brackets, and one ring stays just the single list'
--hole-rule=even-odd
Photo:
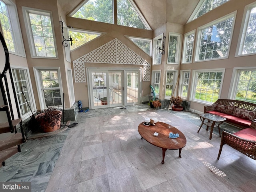
[{"label": "middle of three narrow lower-row windows in the right corner", "polygon": [[176,83],[177,71],[167,70],[166,71],[166,85],[165,85],[165,99],[171,98],[173,95],[175,83]]}]

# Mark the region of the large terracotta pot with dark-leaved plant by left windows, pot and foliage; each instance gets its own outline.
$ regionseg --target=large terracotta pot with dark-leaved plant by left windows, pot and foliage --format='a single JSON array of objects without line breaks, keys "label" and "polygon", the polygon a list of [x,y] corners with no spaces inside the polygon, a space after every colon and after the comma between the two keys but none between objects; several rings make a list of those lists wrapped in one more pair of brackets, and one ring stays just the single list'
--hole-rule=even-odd
[{"label": "large terracotta pot with dark-leaved plant by left windows, pot and foliage", "polygon": [[37,110],[35,120],[42,132],[52,132],[60,128],[62,111],[49,107]]}]

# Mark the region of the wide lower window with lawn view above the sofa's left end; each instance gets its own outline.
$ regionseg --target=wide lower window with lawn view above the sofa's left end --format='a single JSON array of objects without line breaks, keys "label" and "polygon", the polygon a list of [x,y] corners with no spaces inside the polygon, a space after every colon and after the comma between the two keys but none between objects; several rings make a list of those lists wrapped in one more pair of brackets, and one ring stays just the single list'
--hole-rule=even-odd
[{"label": "wide lower window with lawn view above the sofa's left end", "polygon": [[220,95],[224,70],[198,70],[194,72],[192,100],[213,103]]}]

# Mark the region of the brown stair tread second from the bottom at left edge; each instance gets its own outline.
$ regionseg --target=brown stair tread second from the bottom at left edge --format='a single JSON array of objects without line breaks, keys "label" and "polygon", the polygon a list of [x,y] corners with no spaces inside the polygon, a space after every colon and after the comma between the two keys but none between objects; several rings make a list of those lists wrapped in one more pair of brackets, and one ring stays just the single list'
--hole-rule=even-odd
[{"label": "brown stair tread second from the bottom at left edge", "polygon": [[16,145],[20,145],[24,142],[26,142],[26,140],[23,140],[21,133],[12,134],[11,136],[0,140],[0,151],[6,150]]}]

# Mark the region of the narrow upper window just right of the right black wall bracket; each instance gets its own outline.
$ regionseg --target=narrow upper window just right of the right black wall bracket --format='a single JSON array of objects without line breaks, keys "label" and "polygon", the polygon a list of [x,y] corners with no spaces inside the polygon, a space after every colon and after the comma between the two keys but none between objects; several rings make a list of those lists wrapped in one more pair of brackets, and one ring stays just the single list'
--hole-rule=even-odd
[{"label": "narrow upper window just right of the right black wall bracket", "polygon": [[169,34],[168,58],[167,63],[178,64],[180,53],[180,34]]}]

